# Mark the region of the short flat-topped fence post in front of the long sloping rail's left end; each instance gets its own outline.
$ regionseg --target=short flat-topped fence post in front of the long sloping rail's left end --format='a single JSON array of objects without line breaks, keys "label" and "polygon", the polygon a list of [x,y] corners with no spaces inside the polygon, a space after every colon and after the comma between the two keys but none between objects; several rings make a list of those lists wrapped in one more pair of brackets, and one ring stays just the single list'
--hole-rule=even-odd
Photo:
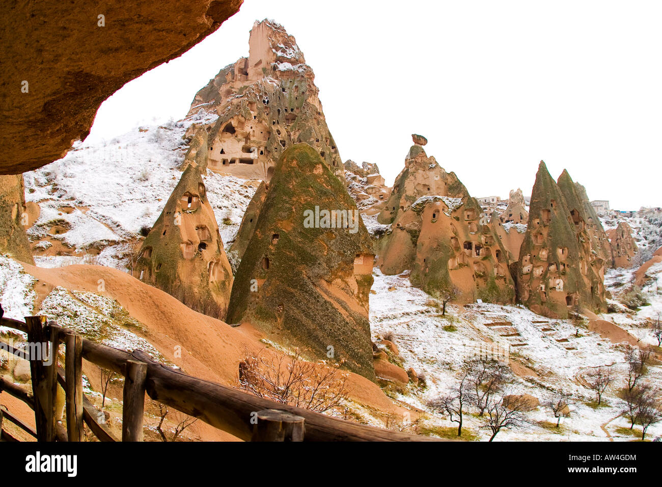
[{"label": "short flat-topped fence post in front of the long sloping rail's left end", "polygon": [[122,407],[122,441],[142,441],[146,378],[147,364],[145,362],[126,361],[124,406]]}]

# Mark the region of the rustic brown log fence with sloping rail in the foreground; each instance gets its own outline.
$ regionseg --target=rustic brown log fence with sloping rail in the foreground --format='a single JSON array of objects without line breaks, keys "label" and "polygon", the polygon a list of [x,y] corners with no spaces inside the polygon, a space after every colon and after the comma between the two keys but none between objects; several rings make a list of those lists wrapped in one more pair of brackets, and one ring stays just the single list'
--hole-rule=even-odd
[{"label": "rustic brown log fence with sloping rail in the foreground", "polygon": [[[5,408],[0,409],[0,429],[3,420],[11,421],[38,441],[83,441],[83,423],[99,440],[118,441],[83,394],[83,358],[124,376],[121,441],[142,441],[145,394],[247,441],[430,441],[429,437],[344,421],[189,376],[152,360],[143,351],[128,353],[83,339],[42,316],[26,317],[25,322],[3,317],[0,325],[27,333],[28,343],[47,343],[52,354],[47,364],[41,356],[26,356],[2,343],[10,353],[30,359],[32,394],[2,378],[0,392],[34,410],[36,430]],[[60,343],[66,349],[64,368],[58,363]],[[66,397],[66,429],[56,419],[58,384]],[[17,441],[4,429],[1,437]]]}]

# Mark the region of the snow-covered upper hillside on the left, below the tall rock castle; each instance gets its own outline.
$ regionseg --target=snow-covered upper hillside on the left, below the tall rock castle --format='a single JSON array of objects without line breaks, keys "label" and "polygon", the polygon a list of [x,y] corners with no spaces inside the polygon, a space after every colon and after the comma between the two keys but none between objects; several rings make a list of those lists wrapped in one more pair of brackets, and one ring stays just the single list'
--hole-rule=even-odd
[{"label": "snow-covered upper hillside on the left, below the tall rock castle", "polygon": [[[41,210],[28,230],[30,240],[41,248],[60,241],[66,246],[62,254],[70,256],[38,256],[37,264],[77,263],[95,248],[97,263],[124,268],[119,260],[127,253],[126,242],[154,225],[181,178],[183,136],[193,119],[140,127],[99,144],[78,142],[64,158],[24,174],[26,199]],[[211,171],[203,179],[227,247],[257,184]]]}]

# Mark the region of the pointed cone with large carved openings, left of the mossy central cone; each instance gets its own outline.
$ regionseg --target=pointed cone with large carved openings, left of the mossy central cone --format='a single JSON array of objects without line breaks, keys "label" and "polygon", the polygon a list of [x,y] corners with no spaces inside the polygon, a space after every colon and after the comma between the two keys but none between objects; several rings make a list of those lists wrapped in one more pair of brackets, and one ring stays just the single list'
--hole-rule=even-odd
[{"label": "pointed cone with large carved openings, left of the mossy central cone", "polygon": [[189,165],[140,248],[140,280],[224,319],[232,270],[197,166]]}]

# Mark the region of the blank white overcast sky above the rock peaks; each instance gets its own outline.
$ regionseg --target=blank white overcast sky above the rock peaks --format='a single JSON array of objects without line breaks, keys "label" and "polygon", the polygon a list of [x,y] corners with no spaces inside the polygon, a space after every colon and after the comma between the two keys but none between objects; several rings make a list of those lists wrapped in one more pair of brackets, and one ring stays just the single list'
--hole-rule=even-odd
[{"label": "blank white overcast sky above the rock peaks", "polygon": [[475,197],[530,195],[542,159],[612,208],[662,205],[660,1],[245,0],[107,99],[88,140],[181,119],[198,89],[248,55],[265,18],[314,70],[342,160],[376,162],[389,185],[419,133]]}]

